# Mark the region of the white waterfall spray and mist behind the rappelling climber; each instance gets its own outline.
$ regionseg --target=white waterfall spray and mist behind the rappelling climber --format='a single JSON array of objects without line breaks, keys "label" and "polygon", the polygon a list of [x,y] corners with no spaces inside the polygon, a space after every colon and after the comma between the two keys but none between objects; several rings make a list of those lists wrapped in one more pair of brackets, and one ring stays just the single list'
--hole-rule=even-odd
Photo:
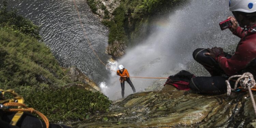
[{"label": "white waterfall spray and mist behind the rappelling climber", "polygon": [[[187,69],[189,62],[194,61],[192,53],[196,48],[223,47],[238,43],[238,37],[229,30],[221,31],[219,28],[219,22],[232,15],[228,2],[190,0],[168,17],[159,17],[152,24],[154,32],[146,40],[127,49],[121,59],[108,65],[115,70],[118,70],[118,65],[123,65],[130,76],[168,77]],[[157,79],[131,78],[131,81],[136,91],[140,92]],[[101,84],[101,89],[111,100],[122,98],[116,72],[109,75],[108,82]],[[125,82],[125,97],[132,93],[131,87]]]}]

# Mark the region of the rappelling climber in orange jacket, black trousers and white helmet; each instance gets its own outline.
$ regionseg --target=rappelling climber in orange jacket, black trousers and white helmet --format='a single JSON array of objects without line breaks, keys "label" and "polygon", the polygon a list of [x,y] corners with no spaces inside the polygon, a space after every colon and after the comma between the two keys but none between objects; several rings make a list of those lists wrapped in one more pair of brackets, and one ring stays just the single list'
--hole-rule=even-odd
[{"label": "rappelling climber in orange jacket, black trousers and white helmet", "polygon": [[131,86],[133,93],[136,93],[136,90],[130,80],[127,69],[125,69],[123,65],[119,65],[118,68],[119,70],[116,71],[116,74],[120,76],[119,81],[121,83],[122,88],[122,98],[124,98],[125,95],[125,81]]}]

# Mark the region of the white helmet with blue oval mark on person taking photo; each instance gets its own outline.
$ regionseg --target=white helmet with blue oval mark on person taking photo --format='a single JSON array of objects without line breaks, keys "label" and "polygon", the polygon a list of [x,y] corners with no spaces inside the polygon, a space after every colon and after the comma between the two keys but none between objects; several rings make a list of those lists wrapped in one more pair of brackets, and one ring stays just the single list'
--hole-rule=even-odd
[{"label": "white helmet with blue oval mark on person taking photo", "polygon": [[256,0],[229,0],[230,11],[256,12]]}]

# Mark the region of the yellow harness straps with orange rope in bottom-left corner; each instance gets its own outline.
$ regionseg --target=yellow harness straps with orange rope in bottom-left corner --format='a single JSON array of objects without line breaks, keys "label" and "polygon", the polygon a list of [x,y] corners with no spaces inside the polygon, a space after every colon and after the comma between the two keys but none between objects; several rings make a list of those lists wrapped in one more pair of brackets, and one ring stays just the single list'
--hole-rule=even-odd
[{"label": "yellow harness straps with orange rope in bottom-left corner", "polygon": [[[5,99],[5,93],[10,93],[14,98]],[[7,112],[16,112],[14,117],[12,118],[10,124],[15,126],[19,121],[20,117],[23,115],[24,112],[36,113],[38,114],[45,122],[46,128],[49,128],[49,120],[47,117],[39,111],[34,110],[33,108],[28,108],[24,104],[24,98],[14,90],[2,90],[0,89],[0,109]],[[17,106],[17,108],[13,108]]]}]

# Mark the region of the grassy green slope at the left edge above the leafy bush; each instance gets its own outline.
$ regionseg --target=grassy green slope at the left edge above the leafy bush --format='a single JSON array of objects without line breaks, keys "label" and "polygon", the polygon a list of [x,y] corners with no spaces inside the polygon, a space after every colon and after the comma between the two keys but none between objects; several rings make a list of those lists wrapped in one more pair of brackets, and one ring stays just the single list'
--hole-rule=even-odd
[{"label": "grassy green slope at the left edge above the leafy bush", "polygon": [[63,86],[71,82],[50,49],[30,35],[0,29],[0,57],[1,87]]}]

